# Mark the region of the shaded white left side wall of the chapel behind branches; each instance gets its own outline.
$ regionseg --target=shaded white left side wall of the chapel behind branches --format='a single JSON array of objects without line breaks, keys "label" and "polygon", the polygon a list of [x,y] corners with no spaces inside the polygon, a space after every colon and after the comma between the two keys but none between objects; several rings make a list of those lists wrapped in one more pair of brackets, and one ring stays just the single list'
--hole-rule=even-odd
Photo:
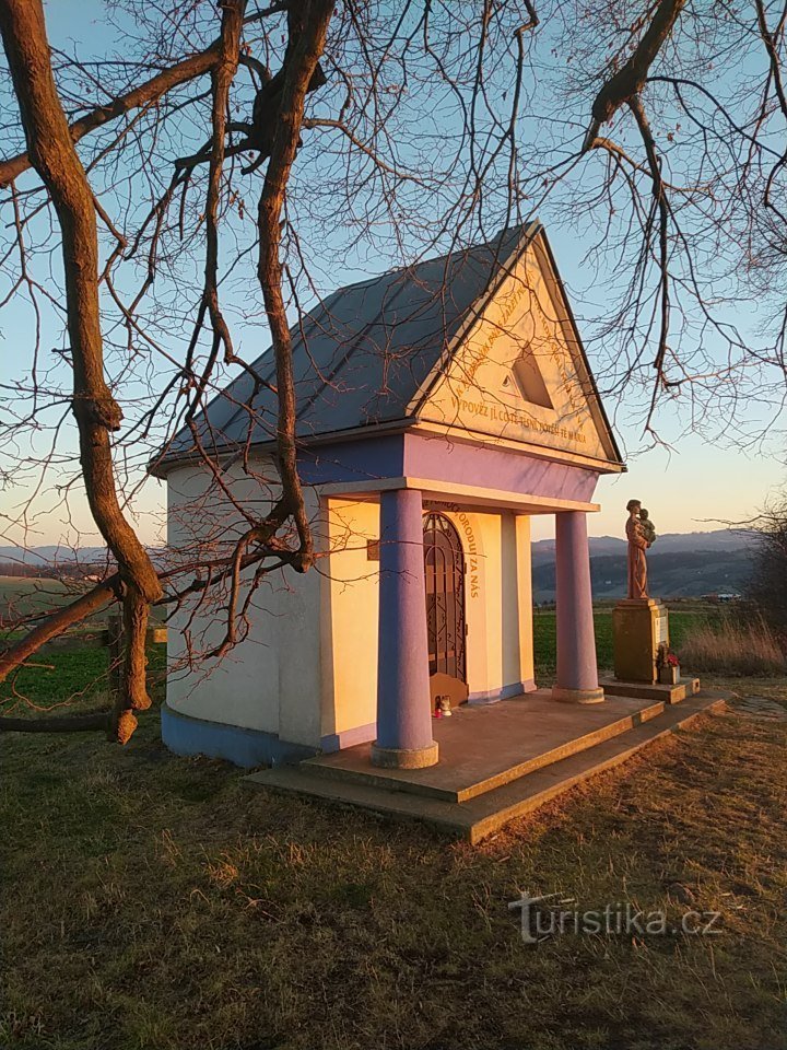
[{"label": "shaded white left side wall of the chapel behind branches", "polygon": [[[262,478],[274,478],[270,463],[259,462]],[[257,514],[270,505],[263,481],[239,469],[224,475],[232,495]],[[316,500],[307,490],[307,503]],[[184,466],[167,477],[167,537],[169,548],[186,560],[211,557],[231,544],[246,524],[232,500],[213,483],[204,468]],[[250,580],[254,570],[245,573]],[[216,645],[224,633],[215,599],[188,599],[169,620],[167,704],[181,714],[279,734],[285,739],[319,743],[319,582],[310,571],[303,576],[275,570],[262,581],[249,608],[249,630],[220,661],[185,664],[191,637],[195,653]],[[246,593],[246,592],[244,592]],[[292,658],[293,654],[296,658]],[[290,657],[290,658],[287,658]],[[317,691],[315,691],[317,690]],[[286,734],[281,732],[282,713]]]}]

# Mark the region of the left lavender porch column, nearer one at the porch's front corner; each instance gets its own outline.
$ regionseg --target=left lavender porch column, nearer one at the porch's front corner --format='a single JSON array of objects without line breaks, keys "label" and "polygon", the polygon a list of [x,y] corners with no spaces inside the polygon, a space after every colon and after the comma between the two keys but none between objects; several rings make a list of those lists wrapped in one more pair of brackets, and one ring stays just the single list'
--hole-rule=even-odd
[{"label": "left lavender porch column, nearer one at the porch's front corner", "polygon": [[437,761],[426,642],[423,503],[413,489],[380,493],[377,739],[374,766],[422,769]]}]

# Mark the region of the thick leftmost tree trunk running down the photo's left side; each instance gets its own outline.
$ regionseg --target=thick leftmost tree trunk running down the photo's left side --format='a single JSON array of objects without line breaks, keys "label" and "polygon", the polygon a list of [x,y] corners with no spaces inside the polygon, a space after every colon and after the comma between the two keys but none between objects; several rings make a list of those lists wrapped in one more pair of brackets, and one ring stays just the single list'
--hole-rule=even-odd
[{"label": "thick leftmost tree trunk running down the photo's left side", "polygon": [[[48,189],[62,233],[66,313],[73,369],[73,412],[93,517],[118,561],[127,620],[125,688],[114,735],[126,743],[145,691],[144,637],[151,602],[162,595],[148,553],[120,510],[109,432],[122,413],[104,378],[98,310],[98,240],[93,192],[55,86],[42,0],[4,0],[0,33],[33,166]],[[131,630],[128,630],[129,625]]]}]

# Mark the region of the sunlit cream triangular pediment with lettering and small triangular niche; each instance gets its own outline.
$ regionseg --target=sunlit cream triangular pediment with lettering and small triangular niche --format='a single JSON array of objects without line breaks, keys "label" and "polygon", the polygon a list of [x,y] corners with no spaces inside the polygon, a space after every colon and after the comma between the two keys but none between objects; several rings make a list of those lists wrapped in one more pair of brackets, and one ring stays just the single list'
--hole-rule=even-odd
[{"label": "sunlit cream triangular pediment with lettering and small triangular niche", "polygon": [[543,231],[501,264],[495,287],[423,385],[419,421],[619,466]]}]

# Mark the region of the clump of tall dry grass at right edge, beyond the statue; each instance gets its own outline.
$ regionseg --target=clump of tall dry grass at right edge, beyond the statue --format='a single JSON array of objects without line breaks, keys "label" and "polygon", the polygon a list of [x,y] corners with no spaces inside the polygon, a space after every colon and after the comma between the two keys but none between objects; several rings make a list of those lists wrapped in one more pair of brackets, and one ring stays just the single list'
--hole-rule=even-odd
[{"label": "clump of tall dry grass at right edge, beyond the statue", "polygon": [[695,627],[680,646],[686,670],[717,675],[778,675],[786,668],[782,648],[764,620],[748,614],[745,619],[725,617]]}]

